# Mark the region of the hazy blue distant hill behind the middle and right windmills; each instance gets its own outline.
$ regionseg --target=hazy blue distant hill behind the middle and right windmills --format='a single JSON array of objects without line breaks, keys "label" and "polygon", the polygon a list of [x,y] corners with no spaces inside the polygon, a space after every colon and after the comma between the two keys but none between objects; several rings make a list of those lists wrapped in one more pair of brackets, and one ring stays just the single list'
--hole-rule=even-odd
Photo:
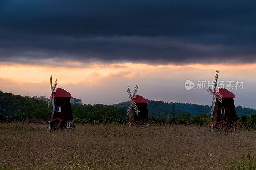
[{"label": "hazy blue distant hill behind the middle and right windmills", "polygon": [[[169,113],[169,116],[173,114],[173,104],[175,105],[174,114],[176,116],[181,113],[189,113],[191,115],[201,115],[202,113],[210,114],[211,107],[208,105],[198,105],[198,104],[189,104],[189,103],[167,103],[163,101],[154,101],[148,100],[148,113],[150,117],[166,118]],[[122,109],[127,109],[129,101],[114,104],[113,106],[119,107]],[[251,113],[256,113],[255,109],[252,108],[243,108],[242,106],[236,106],[236,114],[238,116],[250,115]]]}]

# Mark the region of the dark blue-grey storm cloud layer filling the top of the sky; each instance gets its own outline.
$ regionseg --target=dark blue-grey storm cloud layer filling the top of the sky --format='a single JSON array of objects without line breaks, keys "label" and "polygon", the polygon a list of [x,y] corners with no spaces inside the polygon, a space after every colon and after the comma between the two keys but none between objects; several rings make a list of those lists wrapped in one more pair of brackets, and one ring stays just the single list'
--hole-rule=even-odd
[{"label": "dark blue-grey storm cloud layer filling the top of the sky", "polygon": [[0,1],[0,60],[256,62],[253,1]]}]

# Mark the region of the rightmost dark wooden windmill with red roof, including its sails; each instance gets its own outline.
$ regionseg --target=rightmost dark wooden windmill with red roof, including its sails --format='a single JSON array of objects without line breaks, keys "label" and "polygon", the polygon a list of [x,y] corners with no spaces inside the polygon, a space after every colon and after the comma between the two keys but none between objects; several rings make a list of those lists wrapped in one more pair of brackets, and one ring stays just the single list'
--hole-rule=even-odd
[{"label": "rightmost dark wooden windmill with red roof, including its sails", "polygon": [[[207,92],[213,96],[212,99],[212,123],[210,124],[210,130],[213,129],[230,129],[233,128],[234,131],[237,130],[237,115],[234,104],[235,95],[224,88],[218,88],[217,80],[218,80],[219,71],[216,71],[214,89],[212,90],[210,87],[207,89]],[[216,100],[215,100],[216,98]],[[214,105],[215,103],[215,105]]]}]

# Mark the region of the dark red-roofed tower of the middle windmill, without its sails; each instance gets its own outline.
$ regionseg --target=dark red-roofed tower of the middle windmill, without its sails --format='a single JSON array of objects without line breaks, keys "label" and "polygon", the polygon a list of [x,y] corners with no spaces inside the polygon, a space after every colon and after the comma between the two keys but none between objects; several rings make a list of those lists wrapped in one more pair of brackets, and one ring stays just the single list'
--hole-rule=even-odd
[{"label": "dark red-roofed tower of the middle windmill, without its sails", "polygon": [[147,106],[148,100],[143,98],[142,96],[135,95],[134,101],[138,107],[138,112],[136,113],[134,107],[132,108],[129,122],[133,122],[136,124],[147,123],[149,120]]}]

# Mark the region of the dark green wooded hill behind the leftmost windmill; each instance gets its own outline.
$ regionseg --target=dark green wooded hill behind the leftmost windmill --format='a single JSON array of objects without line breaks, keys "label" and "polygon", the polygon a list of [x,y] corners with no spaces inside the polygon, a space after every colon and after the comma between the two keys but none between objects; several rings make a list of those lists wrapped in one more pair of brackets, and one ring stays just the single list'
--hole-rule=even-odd
[{"label": "dark green wooded hill behind the leftmost windmill", "polygon": [[[126,121],[125,110],[112,105],[71,104],[71,107],[73,118],[79,119],[76,120],[76,122],[94,122],[97,120],[104,123],[120,123]],[[51,113],[52,104],[47,108],[47,101],[45,100],[42,101],[0,91],[0,122],[1,120],[12,121],[24,118],[36,118],[48,121],[51,117]]]}]

